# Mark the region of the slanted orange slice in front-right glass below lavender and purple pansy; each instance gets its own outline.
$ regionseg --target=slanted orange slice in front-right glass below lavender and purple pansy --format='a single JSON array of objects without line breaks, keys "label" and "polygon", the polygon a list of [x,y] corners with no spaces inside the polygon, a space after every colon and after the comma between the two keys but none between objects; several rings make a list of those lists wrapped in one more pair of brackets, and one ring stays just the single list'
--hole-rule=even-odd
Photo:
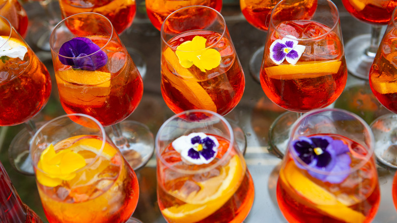
[{"label": "slanted orange slice in front-right glass below lavender and purple pansy", "polygon": [[293,198],[308,200],[310,208],[345,222],[358,223],[365,220],[362,213],[347,207],[334,194],[304,176],[294,161],[289,161],[285,169],[280,171],[280,180],[291,187],[290,191],[294,191],[290,194]]}]

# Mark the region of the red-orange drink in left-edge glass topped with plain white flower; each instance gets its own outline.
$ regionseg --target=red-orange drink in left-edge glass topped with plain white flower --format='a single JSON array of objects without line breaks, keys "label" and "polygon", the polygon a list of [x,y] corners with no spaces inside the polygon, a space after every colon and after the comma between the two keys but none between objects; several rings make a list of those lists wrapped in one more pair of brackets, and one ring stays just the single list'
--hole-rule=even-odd
[{"label": "red-orange drink in left-edge glass topped with plain white flower", "polygon": [[0,66],[0,126],[24,123],[47,103],[50,75],[30,49],[23,61],[0,61]]}]

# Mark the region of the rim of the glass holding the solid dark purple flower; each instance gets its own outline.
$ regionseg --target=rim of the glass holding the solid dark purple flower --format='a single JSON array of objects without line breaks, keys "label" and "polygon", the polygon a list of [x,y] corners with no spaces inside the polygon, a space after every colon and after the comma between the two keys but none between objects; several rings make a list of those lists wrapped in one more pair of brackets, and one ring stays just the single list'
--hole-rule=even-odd
[{"label": "rim of the glass holding the solid dark purple flower", "polygon": [[[53,48],[53,44],[52,44],[52,42],[53,42],[52,39],[54,38],[53,36],[55,35],[55,32],[54,32],[54,31],[57,30],[61,25],[65,24],[65,23],[66,23],[66,22],[65,22],[66,20],[68,20],[68,19],[70,19],[70,18],[72,18],[72,17],[81,16],[81,15],[84,15],[84,14],[91,14],[91,15],[93,15],[93,16],[102,17],[103,19],[105,19],[105,20],[110,24],[111,32],[110,32],[110,36],[108,37],[107,42],[106,42],[102,47],[100,47],[100,49],[98,49],[97,51],[95,51],[95,52],[93,52],[93,53],[91,53],[91,54],[85,55],[85,56],[83,56],[83,57],[76,57],[76,58],[73,58],[73,57],[65,57],[64,55],[59,54],[59,52],[56,52],[55,49]],[[78,59],[78,58],[91,57],[92,55],[98,53],[99,51],[102,51],[102,50],[109,44],[109,42],[111,41],[111,39],[113,39],[114,32],[115,32],[115,27],[113,26],[113,24],[111,23],[111,21],[110,21],[106,16],[101,15],[101,14],[96,13],[96,12],[81,12],[81,13],[77,13],[77,14],[68,16],[68,17],[62,19],[60,22],[58,22],[58,24],[55,25],[55,27],[52,29],[51,35],[50,35],[50,37],[49,37],[49,45],[50,45],[51,52],[54,52],[56,55],[58,55],[58,57],[62,57],[62,58],[66,58],[66,59]],[[65,42],[64,42],[64,43],[65,43]],[[64,44],[64,43],[62,43],[62,44]]]}]

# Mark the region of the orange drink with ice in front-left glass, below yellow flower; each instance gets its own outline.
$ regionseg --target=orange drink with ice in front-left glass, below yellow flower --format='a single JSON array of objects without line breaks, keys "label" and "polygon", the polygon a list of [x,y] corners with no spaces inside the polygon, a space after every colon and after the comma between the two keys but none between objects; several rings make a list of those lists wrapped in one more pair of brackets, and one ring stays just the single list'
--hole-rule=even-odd
[{"label": "orange drink with ice in front-left glass, below yellow flower", "polygon": [[[78,140],[77,136],[61,141],[54,146],[55,151]],[[87,160],[96,155],[88,150],[79,153]],[[124,223],[134,212],[139,196],[135,172],[120,153],[109,159],[99,157],[83,173],[77,172],[75,178],[59,186],[46,187],[38,181],[37,185],[50,223]]]}]

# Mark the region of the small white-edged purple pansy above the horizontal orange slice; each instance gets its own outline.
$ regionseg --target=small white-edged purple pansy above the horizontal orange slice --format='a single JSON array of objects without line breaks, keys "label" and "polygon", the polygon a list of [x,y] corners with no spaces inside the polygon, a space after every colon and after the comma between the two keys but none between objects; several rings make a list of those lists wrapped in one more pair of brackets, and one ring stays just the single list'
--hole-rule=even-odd
[{"label": "small white-edged purple pansy above the horizontal orange slice", "polygon": [[276,64],[281,64],[284,59],[290,64],[296,64],[304,51],[305,46],[298,45],[296,38],[288,35],[270,45],[270,59]]}]

